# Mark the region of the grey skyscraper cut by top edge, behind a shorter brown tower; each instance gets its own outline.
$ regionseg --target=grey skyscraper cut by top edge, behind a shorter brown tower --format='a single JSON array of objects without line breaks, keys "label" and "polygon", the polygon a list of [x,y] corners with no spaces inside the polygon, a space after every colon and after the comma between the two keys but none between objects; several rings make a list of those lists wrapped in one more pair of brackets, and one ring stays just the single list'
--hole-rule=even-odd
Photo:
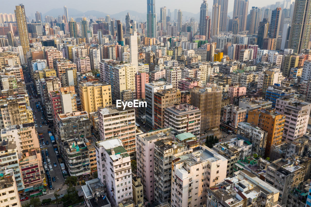
[{"label": "grey skyscraper cut by top edge, behind a shorter brown tower", "polygon": [[239,31],[246,30],[248,0],[234,0],[233,16],[239,19]]}]

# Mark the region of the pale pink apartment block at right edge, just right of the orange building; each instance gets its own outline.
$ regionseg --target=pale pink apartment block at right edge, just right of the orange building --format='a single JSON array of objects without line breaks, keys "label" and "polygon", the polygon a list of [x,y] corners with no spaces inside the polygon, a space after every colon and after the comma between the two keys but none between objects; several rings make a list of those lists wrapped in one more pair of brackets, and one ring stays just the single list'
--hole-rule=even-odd
[{"label": "pale pink apartment block at right edge, just right of the orange building", "polygon": [[310,103],[285,96],[276,99],[275,109],[285,115],[284,140],[293,141],[306,133],[311,109]]}]

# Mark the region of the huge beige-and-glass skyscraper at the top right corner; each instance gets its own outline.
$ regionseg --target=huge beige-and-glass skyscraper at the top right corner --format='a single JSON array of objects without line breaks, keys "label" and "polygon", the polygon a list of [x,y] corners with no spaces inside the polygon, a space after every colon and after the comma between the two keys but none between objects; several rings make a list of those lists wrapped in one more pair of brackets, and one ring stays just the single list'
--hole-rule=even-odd
[{"label": "huge beige-and-glass skyscraper at the top right corner", "polygon": [[290,39],[288,48],[294,53],[308,49],[311,32],[311,5],[309,0],[296,0],[293,19],[290,26]]}]

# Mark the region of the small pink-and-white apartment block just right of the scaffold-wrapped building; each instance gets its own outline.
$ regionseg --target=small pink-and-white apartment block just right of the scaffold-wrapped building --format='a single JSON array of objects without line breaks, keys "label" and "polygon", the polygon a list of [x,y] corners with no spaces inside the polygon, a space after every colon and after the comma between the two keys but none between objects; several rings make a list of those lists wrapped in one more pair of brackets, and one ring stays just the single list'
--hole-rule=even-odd
[{"label": "small pink-and-white apartment block just right of the scaffold-wrapped building", "polygon": [[246,108],[239,108],[233,104],[224,106],[222,122],[233,129],[236,129],[240,122],[245,122],[246,111]]}]

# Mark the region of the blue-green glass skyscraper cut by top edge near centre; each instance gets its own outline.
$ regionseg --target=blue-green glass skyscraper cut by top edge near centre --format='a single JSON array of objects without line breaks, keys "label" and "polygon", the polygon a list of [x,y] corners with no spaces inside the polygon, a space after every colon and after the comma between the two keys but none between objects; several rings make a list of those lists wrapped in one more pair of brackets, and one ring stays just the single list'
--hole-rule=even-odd
[{"label": "blue-green glass skyscraper cut by top edge near centre", "polygon": [[156,0],[147,0],[147,36],[149,38],[156,37]]}]

